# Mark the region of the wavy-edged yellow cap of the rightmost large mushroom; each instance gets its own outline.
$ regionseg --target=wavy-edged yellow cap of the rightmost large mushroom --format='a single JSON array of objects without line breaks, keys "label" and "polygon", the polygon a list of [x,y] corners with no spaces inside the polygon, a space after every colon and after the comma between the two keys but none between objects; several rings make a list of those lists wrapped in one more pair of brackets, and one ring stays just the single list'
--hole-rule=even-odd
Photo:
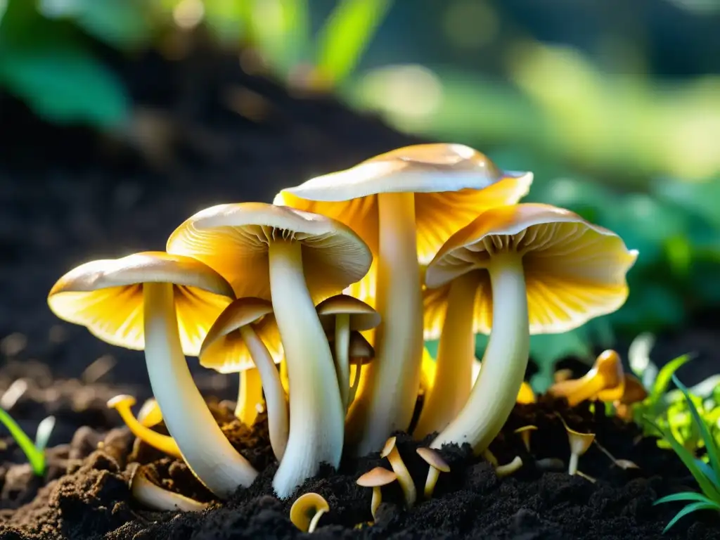
[{"label": "wavy-edged yellow cap of the rightmost large mushroom", "polygon": [[498,253],[522,255],[530,333],[560,333],[613,312],[628,295],[636,251],[610,230],[548,204],[496,207],[451,236],[426,270],[426,339],[438,338],[451,282],[477,275],[474,331],[490,333],[492,290],[483,266]]}]

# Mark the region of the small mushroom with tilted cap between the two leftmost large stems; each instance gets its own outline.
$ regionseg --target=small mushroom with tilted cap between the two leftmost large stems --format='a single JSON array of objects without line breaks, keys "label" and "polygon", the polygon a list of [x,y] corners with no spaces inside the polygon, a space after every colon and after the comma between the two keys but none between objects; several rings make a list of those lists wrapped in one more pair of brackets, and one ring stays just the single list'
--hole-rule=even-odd
[{"label": "small mushroom with tilted cap between the two leftmost large stems", "polygon": [[[225,308],[210,327],[199,354],[200,365],[220,373],[243,374],[251,370],[260,374],[268,412],[270,444],[278,461],[285,453],[289,431],[287,399],[275,366],[281,356],[280,335],[272,315],[272,304],[269,300],[254,297],[238,298]],[[252,389],[248,388],[251,384],[251,379],[241,378],[240,393],[243,393],[243,388],[245,392],[251,392]],[[238,403],[245,405],[245,402],[243,396],[238,396]],[[254,403],[251,406],[255,408]]]}]

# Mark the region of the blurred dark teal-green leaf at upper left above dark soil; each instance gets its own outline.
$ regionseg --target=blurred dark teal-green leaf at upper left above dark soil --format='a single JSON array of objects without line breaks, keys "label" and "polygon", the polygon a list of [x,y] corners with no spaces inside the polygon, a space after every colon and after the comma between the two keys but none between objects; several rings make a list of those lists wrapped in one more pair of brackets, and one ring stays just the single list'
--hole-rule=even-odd
[{"label": "blurred dark teal-green leaf at upper left above dark soil", "polygon": [[54,122],[116,127],[130,104],[120,80],[91,53],[46,37],[42,44],[4,43],[0,84]]}]

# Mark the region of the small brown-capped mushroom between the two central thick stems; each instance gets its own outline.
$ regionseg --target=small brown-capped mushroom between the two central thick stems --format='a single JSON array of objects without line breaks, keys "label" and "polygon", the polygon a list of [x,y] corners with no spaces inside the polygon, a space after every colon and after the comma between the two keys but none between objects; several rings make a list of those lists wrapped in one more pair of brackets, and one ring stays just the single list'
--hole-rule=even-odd
[{"label": "small brown-capped mushroom between the two central thick stems", "polygon": [[362,300],[347,294],[336,294],[336,296],[323,300],[315,309],[318,312],[325,333],[333,338],[338,385],[340,386],[343,407],[347,410],[350,389],[350,361],[348,357],[350,333],[351,331],[372,330],[379,325],[380,315]]}]

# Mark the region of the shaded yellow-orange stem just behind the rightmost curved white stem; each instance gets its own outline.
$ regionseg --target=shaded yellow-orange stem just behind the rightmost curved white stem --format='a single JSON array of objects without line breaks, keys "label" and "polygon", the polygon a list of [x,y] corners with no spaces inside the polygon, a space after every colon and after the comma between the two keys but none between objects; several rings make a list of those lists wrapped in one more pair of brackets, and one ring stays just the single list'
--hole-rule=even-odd
[{"label": "shaded yellow-orange stem just behind the rightmost curved white stem", "polygon": [[477,276],[457,277],[450,285],[447,312],[438,343],[435,381],[426,391],[415,438],[447,426],[467,402],[472,388],[475,336],[472,329]]}]

